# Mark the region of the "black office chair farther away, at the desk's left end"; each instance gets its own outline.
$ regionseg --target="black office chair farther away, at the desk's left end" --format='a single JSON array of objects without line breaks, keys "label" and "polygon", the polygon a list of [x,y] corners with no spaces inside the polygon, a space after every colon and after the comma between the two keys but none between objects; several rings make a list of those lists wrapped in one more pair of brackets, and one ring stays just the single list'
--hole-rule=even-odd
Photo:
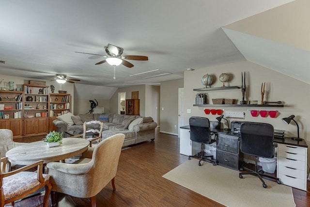
[{"label": "black office chair farther away, at the desk's left end", "polygon": [[[190,158],[200,158],[198,165],[201,166],[202,159],[209,160],[213,162],[213,165],[217,165],[217,161],[213,159],[213,155],[205,156],[204,154],[204,144],[214,143],[216,139],[212,139],[210,133],[210,121],[208,118],[204,117],[190,117],[189,118],[189,135],[192,142],[201,143],[202,151],[201,155],[188,156]],[[210,159],[207,159],[210,158]]]}]

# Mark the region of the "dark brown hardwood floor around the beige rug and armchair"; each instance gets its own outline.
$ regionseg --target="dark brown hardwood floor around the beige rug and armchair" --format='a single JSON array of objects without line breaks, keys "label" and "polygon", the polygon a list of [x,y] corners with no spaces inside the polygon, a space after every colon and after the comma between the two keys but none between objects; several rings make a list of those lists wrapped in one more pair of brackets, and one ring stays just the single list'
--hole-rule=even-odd
[{"label": "dark brown hardwood floor around the beige rug and armchair", "polygon": [[[185,162],[187,157],[179,154],[177,136],[158,131],[159,128],[156,128],[155,142],[140,143],[122,151],[115,178],[117,190],[112,191],[109,183],[96,196],[97,207],[222,207],[221,204],[162,177]],[[309,191],[293,188],[293,194],[296,207],[310,206]],[[42,199],[42,195],[33,196],[15,206],[36,206]],[[90,206],[90,200],[59,194],[58,206],[87,207]]]}]

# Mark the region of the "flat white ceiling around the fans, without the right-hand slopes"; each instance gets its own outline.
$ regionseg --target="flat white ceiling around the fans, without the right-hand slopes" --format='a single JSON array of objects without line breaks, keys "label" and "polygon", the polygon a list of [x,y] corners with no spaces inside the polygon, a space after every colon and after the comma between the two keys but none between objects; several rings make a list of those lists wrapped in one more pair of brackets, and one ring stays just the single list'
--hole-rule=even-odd
[{"label": "flat white ceiling around the fans, without the right-hand slopes", "polygon": [[[0,0],[0,74],[53,80],[62,73],[110,87],[182,79],[186,68],[246,60],[221,27],[291,1]],[[108,43],[149,61],[117,66],[113,80],[111,65],[94,65],[105,58],[75,53],[104,55]],[[155,69],[171,74],[129,77]]]}]

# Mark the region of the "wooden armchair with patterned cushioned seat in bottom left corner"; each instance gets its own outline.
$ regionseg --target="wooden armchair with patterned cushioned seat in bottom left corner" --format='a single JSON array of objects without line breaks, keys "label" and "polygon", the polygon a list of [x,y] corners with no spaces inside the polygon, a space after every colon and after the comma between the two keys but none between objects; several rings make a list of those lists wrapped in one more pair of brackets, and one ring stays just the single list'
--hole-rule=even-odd
[{"label": "wooden armchair with patterned cushioned seat in bottom left corner", "polygon": [[[6,162],[6,157],[1,158],[0,207],[9,203],[14,207],[14,201],[24,198],[42,187],[45,187],[45,195],[43,203],[40,205],[47,207],[52,185],[49,182],[50,175],[43,174],[43,160],[8,173],[5,173]],[[35,166],[37,166],[37,172],[27,171]]]}]

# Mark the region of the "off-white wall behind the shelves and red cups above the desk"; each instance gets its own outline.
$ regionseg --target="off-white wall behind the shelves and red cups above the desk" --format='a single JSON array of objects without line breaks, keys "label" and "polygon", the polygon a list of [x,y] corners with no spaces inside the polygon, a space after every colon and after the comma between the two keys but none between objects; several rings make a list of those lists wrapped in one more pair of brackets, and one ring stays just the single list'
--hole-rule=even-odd
[{"label": "off-white wall behind the shelves and red cups above the desk", "polygon": [[[284,108],[271,108],[271,107],[195,107],[195,95],[197,91],[193,91],[195,88],[203,88],[201,78],[204,74],[211,74],[216,77],[216,81],[211,87],[220,87],[222,83],[218,80],[218,76],[221,73],[229,73],[232,79],[227,86],[241,86],[241,72],[246,72],[247,79],[247,91],[246,100],[260,100],[261,99],[261,85],[265,82],[265,101],[282,101]],[[208,94],[209,102],[212,103],[212,98],[235,98],[239,102],[242,99],[242,93],[240,89],[235,90],[223,90],[223,91],[205,91]],[[245,119],[240,121],[253,121],[264,122],[274,126],[275,129],[286,130],[288,137],[297,135],[297,127],[294,122],[286,125],[281,119],[288,117],[292,114],[296,116],[300,128],[300,137],[304,138],[309,144],[310,141],[310,85],[299,80],[295,80],[291,77],[285,76],[263,66],[253,64],[248,61],[217,65],[213,67],[207,67],[202,69],[196,69],[194,71],[186,71],[184,74],[184,97],[185,110],[191,109],[191,113],[186,113],[185,121],[188,124],[190,116],[202,116],[207,117],[210,120],[215,121],[218,115],[206,115],[203,111],[204,108],[209,109],[224,109],[225,111],[240,111],[245,112]],[[252,117],[248,110],[266,110],[273,111],[278,110],[278,116],[276,118],[261,116]],[[234,118],[228,118],[229,121],[236,120]],[[223,122],[225,123],[225,122]],[[309,154],[309,153],[308,153]],[[308,163],[310,159],[308,158]]]}]

